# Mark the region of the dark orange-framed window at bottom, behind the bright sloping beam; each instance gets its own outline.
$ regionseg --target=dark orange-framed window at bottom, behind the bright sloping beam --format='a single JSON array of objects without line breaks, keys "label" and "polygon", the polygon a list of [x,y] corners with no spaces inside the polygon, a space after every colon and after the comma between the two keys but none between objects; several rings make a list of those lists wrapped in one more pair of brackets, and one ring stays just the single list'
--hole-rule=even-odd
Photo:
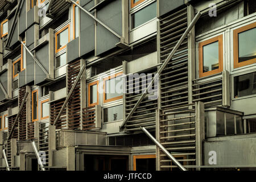
[{"label": "dark orange-framed window at bottom, behind the bright sloping beam", "polygon": [[134,155],[133,171],[155,171],[155,155]]}]

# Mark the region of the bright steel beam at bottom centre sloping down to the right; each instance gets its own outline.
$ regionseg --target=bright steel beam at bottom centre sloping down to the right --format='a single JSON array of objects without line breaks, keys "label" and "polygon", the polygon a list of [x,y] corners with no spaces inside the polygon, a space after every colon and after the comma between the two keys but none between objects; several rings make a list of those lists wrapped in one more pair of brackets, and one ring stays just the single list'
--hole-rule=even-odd
[{"label": "bright steel beam at bottom centre sloping down to the right", "polygon": [[181,171],[188,171],[184,166],[182,166],[180,164],[179,161],[177,161],[177,159],[175,159],[175,157],[173,155],[171,155],[170,152],[168,152],[168,150],[166,150],[166,148],[164,148],[164,146],[162,146],[161,143],[158,142],[158,140],[156,140],[148,131],[147,129],[145,129],[144,127],[141,127],[142,131],[144,131],[144,133],[147,135],[147,137],[149,137],[155,144],[156,146],[158,146],[163,152],[164,154],[167,155],[167,157],[169,159],[172,160],[172,162],[174,162],[176,164],[176,166],[181,170]]}]

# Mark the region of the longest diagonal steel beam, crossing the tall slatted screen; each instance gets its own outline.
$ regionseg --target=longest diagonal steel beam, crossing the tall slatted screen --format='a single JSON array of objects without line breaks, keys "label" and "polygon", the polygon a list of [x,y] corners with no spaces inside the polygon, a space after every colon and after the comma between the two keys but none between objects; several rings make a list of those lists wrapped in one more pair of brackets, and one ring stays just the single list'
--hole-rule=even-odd
[{"label": "longest diagonal steel beam, crossing the tall slatted screen", "polygon": [[137,107],[139,106],[139,104],[141,104],[143,98],[146,96],[148,89],[151,88],[153,82],[155,82],[160,73],[162,73],[163,69],[166,67],[166,65],[169,63],[169,61],[172,59],[172,56],[174,56],[175,52],[177,51],[177,49],[180,47],[180,44],[183,42],[183,40],[186,38],[186,36],[189,34],[189,32],[191,31],[191,29],[193,28],[193,26],[195,26],[197,20],[200,18],[201,13],[200,11],[196,14],[195,18],[192,20],[192,22],[189,24],[187,30],[185,30],[184,34],[181,36],[179,42],[177,42],[176,46],[174,47],[174,49],[172,49],[172,52],[168,55],[167,59],[164,61],[162,67],[160,67],[160,69],[158,70],[158,72],[156,73],[156,75],[154,76],[154,78],[152,79],[152,81],[150,82],[150,84],[148,84],[147,88],[144,90],[141,98],[139,98],[139,100],[137,101],[137,103],[134,105],[133,109],[130,111],[130,113],[127,115],[127,117],[125,118],[125,121],[123,121],[121,127],[123,128],[125,126],[125,124],[127,123],[127,121],[129,121],[129,119],[131,118],[131,115],[133,115],[134,111],[137,109]]}]

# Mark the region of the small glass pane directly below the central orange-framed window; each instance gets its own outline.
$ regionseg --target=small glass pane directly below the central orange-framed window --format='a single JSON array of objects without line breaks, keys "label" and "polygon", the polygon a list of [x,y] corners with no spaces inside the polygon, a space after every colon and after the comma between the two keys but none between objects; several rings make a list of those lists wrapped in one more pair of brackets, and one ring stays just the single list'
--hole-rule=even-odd
[{"label": "small glass pane directly below the central orange-framed window", "polygon": [[123,105],[104,109],[104,122],[118,121],[123,119]]}]

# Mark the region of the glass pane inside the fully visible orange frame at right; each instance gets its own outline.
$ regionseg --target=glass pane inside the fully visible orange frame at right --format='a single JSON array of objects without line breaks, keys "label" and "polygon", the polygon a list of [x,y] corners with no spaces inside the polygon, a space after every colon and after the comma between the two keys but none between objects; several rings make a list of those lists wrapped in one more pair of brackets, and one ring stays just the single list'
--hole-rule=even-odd
[{"label": "glass pane inside the fully visible orange frame at right", "polygon": [[218,41],[203,46],[203,72],[218,69]]}]

